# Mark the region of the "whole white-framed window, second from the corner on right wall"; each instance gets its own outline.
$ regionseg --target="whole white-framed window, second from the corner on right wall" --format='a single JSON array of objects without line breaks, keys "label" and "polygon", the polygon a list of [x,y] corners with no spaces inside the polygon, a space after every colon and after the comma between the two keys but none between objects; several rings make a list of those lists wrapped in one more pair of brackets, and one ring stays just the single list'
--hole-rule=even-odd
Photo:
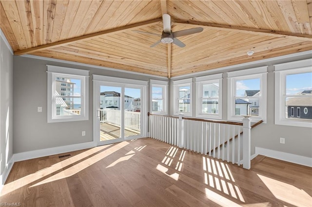
[{"label": "whole white-framed window, second from the corner on right wall", "polygon": [[196,117],[222,119],[222,73],[195,78]]}]

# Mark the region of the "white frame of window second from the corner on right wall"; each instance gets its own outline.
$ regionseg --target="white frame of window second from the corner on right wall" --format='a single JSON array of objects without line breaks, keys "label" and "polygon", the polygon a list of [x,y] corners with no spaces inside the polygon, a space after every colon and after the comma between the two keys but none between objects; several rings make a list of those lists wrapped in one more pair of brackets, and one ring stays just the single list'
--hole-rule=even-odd
[{"label": "white frame of window second from the corner on right wall", "polygon": [[[222,73],[207,75],[202,77],[195,78],[196,82],[196,117],[206,118],[206,119],[217,119],[222,120]],[[219,92],[218,92],[218,114],[212,113],[202,113],[202,99],[203,99],[203,85],[206,84],[219,84]],[[212,95],[212,94],[211,94]]]}]

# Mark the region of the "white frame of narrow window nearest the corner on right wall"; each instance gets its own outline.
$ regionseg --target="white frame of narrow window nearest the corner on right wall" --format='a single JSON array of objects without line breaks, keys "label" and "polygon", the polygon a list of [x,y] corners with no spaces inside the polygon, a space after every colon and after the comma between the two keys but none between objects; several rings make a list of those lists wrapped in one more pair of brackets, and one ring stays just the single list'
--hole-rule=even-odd
[{"label": "white frame of narrow window nearest the corner on right wall", "polygon": [[[192,99],[192,94],[193,94],[193,79],[188,78],[188,79],[183,79],[183,80],[178,80],[178,81],[173,81],[173,86],[174,86],[174,113],[173,115],[178,116],[179,114],[184,114],[186,117],[192,117],[192,111],[193,111],[193,99]],[[179,111],[179,87],[183,86],[190,86],[190,112],[180,112]]]}]

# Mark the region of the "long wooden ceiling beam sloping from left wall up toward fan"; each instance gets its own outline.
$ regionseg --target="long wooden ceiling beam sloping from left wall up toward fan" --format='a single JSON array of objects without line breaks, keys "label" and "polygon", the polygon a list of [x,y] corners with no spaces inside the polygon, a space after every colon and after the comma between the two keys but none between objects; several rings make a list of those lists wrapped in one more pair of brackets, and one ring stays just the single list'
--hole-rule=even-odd
[{"label": "long wooden ceiling beam sloping from left wall up toward fan", "polygon": [[102,35],[113,35],[113,34],[116,34],[116,33],[121,33],[121,32],[129,31],[129,30],[135,30],[135,29],[140,28],[140,27],[147,27],[147,26],[155,25],[155,24],[159,23],[160,21],[162,21],[161,18],[156,18],[156,19],[149,20],[149,21],[139,22],[139,23],[136,23],[136,24],[126,25],[126,26],[123,26],[123,27],[118,27],[118,28],[114,28],[114,29],[110,29],[110,30],[105,30],[105,31],[101,31],[101,32],[98,32],[98,33],[78,36],[78,37],[74,37],[74,38],[70,38],[70,39],[65,39],[65,40],[62,40],[62,41],[59,41],[59,42],[53,42],[51,44],[40,45],[38,47],[28,48],[28,49],[25,49],[25,50],[16,51],[16,52],[14,52],[14,54],[15,55],[22,55],[22,54],[29,54],[29,53],[33,53],[33,52],[42,51],[42,50],[48,50],[48,49],[56,48],[56,47],[59,47],[59,46],[72,44],[74,42],[85,41],[85,40],[88,40],[88,39],[96,38],[96,37],[99,37],[99,36],[102,36]]}]

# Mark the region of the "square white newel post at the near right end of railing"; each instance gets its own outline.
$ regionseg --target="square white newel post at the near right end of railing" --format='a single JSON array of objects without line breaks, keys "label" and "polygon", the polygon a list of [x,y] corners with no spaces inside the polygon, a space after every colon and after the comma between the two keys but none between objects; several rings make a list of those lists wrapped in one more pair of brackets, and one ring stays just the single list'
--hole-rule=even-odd
[{"label": "square white newel post at the near right end of railing", "polygon": [[247,117],[243,119],[243,168],[250,169],[251,161],[251,124]]}]

